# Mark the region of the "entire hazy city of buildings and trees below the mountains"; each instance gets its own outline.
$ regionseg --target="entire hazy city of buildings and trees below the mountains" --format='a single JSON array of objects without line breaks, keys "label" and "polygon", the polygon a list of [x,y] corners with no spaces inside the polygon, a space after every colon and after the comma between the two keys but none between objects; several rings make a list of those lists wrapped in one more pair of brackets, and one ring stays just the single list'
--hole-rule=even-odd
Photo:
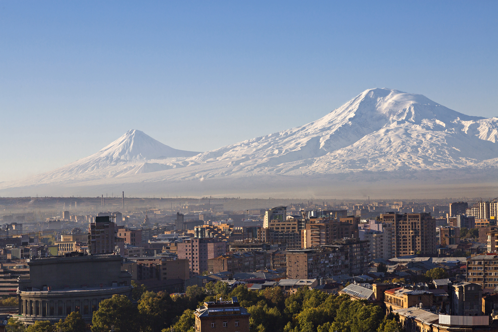
[{"label": "entire hazy city of buildings and trees below the mountains", "polygon": [[[378,331],[495,331],[497,199],[122,192],[0,198],[0,208],[8,331],[267,331],[272,319],[283,331],[351,319]],[[321,317],[306,318],[313,327],[302,321],[310,310]]]}]

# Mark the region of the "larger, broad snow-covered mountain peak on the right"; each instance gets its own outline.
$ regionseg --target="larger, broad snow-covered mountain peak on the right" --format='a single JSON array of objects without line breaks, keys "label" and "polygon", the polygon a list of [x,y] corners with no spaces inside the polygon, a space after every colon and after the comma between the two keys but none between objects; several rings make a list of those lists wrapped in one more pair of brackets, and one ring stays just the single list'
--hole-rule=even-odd
[{"label": "larger, broad snow-covered mountain peak on the right", "polygon": [[[254,164],[258,164],[257,168],[264,165],[280,173],[304,171],[303,167],[328,173],[331,163],[346,159],[399,159],[397,154],[412,158],[429,153],[437,156],[439,162],[446,160],[451,165],[462,163],[458,154],[481,160],[498,157],[497,146],[483,142],[498,140],[497,122],[496,118],[450,110],[422,95],[369,89],[316,121],[201,153],[190,160],[237,160],[233,164],[240,165],[239,168],[254,169]],[[486,149],[480,151],[478,145],[483,144]],[[347,153],[342,151],[346,148]],[[327,163],[319,163],[325,159]],[[425,166],[434,162],[427,161]],[[374,168],[375,162],[371,164]]]}]

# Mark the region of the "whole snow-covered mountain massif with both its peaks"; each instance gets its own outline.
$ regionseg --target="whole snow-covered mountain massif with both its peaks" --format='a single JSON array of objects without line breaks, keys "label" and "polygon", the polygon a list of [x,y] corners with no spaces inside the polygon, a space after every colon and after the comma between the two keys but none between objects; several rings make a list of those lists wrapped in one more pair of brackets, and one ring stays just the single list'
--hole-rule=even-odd
[{"label": "whole snow-covered mountain massif with both its peaks", "polygon": [[497,117],[465,115],[422,95],[370,89],[314,122],[203,153],[175,150],[130,130],[92,156],[0,184],[0,191],[58,184],[141,186],[142,192],[155,188],[160,193],[165,186],[190,186],[188,194],[199,196],[199,183],[204,192],[269,183],[278,192],[278,186],[290,188],[289,182],[292,188],[330,186],[332,179],[353,185],[414,174],[428,185],[455,177],[472,183],[497,171],[497,140]]}]

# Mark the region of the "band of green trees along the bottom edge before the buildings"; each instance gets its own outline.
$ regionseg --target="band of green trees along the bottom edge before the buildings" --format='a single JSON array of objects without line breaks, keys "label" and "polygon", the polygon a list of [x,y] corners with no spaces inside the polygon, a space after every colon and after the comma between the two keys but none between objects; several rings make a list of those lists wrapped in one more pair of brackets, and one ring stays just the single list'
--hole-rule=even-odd
[{"label": "band of green trees along the bottom edge before the buildings", "polygon": [[[284,296],[280,287],[260,291],[239,285],[233,290],[225,282],[208,283],[204,288],[187,287],[185,296],[150,292],[136,285],[132,298],[114,295],[102,301],[92,318],[92,332],[194,332],[194,312],[203,302],[237,297],[251,314],[252,332],[401,332],[399,318],[378,305],[364,300],[352,301],[346,295],[331,295],[300,288]],[[270,328],[271,327],[271,328]],[[10,319],[10,332],[84,332],[79,313],[51,326],[48,321],[24,328]]]}]

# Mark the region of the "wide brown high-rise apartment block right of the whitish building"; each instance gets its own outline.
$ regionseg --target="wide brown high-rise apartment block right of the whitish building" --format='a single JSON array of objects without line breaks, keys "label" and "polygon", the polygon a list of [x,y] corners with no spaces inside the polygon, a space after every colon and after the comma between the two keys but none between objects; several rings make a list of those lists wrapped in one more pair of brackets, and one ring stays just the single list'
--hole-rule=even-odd
[{"label": "wide brown high-rise apartment block right of the whitish building", "polygon": [[382,222],[392,223],[393,247],[396,257],[405,255],[436,254],[436,220],[430,213],[380,215]]}]

